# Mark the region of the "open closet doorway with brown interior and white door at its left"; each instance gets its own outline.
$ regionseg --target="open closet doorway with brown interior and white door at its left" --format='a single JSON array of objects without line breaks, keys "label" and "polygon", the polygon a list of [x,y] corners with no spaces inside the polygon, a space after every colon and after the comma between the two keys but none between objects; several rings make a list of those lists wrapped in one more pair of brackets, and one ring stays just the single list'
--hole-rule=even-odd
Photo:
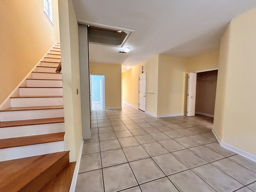
[{"label": "open closet doorway with brown interior and white door at its left", "polygon": [[[190,80],[193,81],[193,78],[188,80],[187,116],[201,114],[214,117],[218,69],[198,71],[190,73],[189,76],[191,74],[196,74],[194,79],[196,82],[190,82]],[[194,86],[190,86],[191,84],[194,84]],[[194,94],[193,96],[191,95],[192,93]],[[193,102],[191,102],[191,97],[194,99]]]}]

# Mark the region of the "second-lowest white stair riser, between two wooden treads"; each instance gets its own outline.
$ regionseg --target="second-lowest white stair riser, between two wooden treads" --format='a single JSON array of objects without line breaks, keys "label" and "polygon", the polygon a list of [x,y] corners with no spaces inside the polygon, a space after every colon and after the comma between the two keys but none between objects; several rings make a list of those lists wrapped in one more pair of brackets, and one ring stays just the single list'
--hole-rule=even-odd
[{"label": "second-lowest white stair riser, between two wooden treads", "polygon": [[65,132],[64,122],[0,128],[0,139]]}]

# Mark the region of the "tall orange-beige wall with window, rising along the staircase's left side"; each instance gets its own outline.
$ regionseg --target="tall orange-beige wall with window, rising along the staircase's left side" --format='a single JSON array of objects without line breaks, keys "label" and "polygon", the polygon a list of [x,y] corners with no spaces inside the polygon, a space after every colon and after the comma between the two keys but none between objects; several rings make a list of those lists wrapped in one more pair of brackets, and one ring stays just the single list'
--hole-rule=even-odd
[{"label": "tall orange-beige wall with window, rising along the staircase's left side", "polygon": [[52,10],[54,27],[44,15],[43,0],[1,0],[0,105],[60,41],[57,0]]}]

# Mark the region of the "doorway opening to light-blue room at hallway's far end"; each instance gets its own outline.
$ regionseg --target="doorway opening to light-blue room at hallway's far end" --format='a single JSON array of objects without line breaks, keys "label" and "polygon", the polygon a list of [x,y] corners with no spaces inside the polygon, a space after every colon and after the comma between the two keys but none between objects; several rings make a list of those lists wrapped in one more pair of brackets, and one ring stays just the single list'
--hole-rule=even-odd
[{"label": "doorway opening to light-blue room at hallway's far end", "polygon": [[105,76],[92,75],[92,106],[105,109]]}]

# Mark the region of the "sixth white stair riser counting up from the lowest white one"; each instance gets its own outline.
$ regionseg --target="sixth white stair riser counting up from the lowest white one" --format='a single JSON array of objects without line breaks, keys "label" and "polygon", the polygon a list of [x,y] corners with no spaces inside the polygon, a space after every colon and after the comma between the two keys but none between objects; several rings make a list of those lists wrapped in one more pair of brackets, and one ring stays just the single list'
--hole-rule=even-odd
[{"label": "sixth white stair riser counting up from the lowest white one", "polygon": [[62,80],[27,79],[27,87],[62,87]]}]

